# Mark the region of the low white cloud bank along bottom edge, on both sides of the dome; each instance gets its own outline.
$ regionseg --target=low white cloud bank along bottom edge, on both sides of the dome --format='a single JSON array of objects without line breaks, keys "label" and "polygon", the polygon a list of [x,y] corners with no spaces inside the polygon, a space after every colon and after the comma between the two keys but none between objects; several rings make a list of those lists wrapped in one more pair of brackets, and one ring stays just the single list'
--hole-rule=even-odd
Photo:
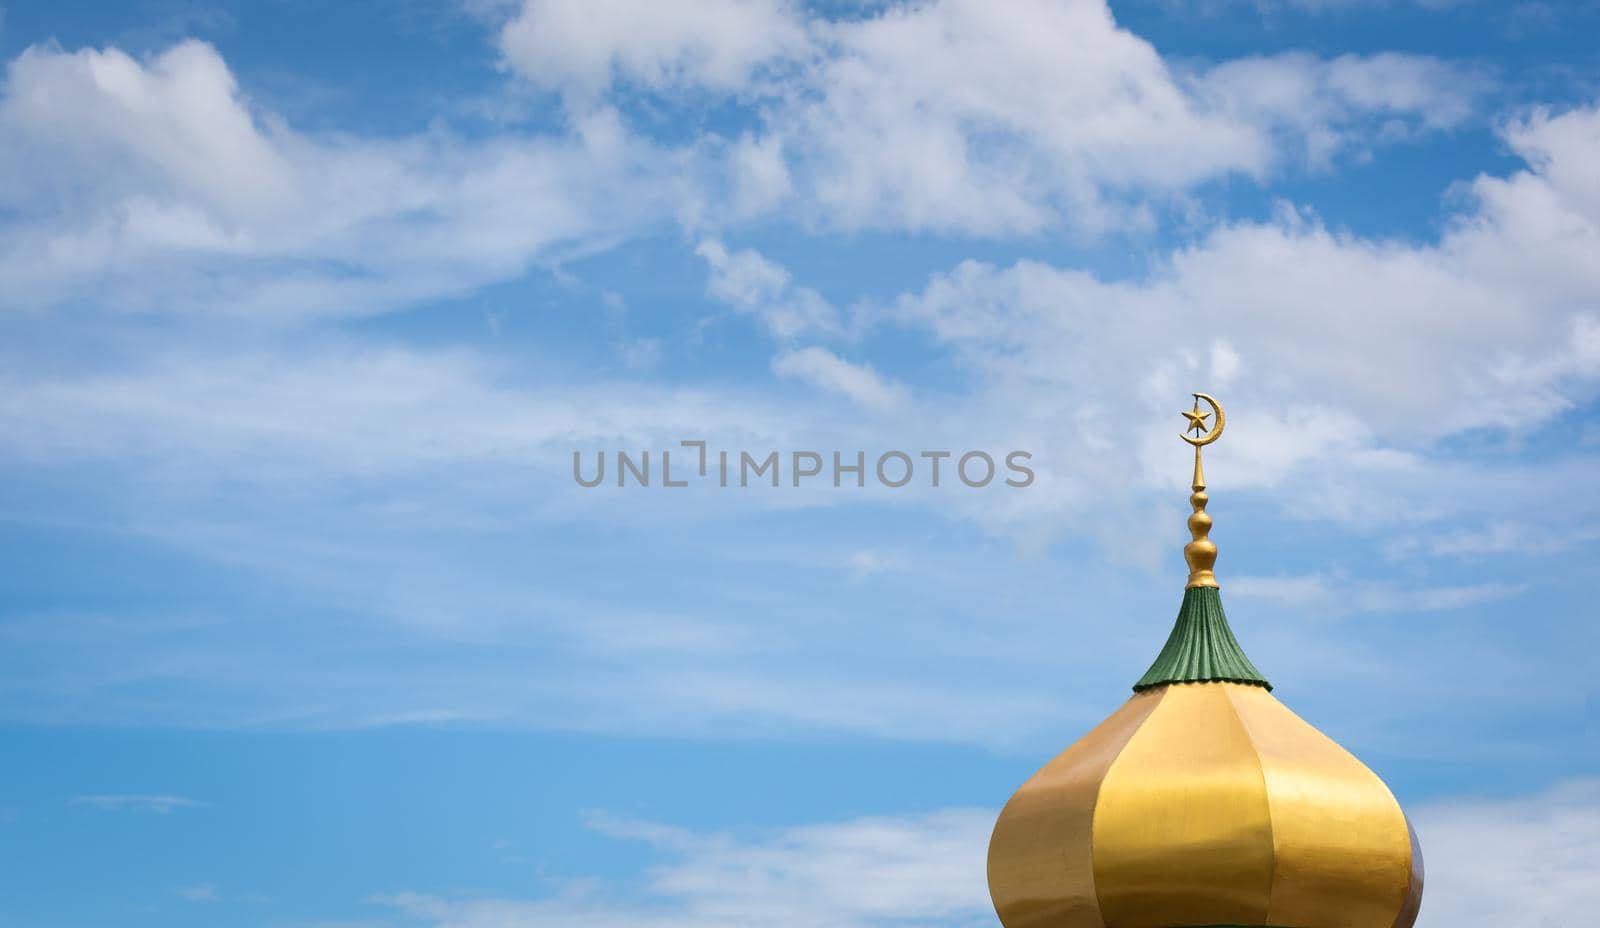
[{"label": "low white cloud bank along bottom edge, on both sides of the dome", "polygon": [[[1570,928],[1600,906],[1600,782],[1413,806],[1427,885],[1418,928]],[[891,928],[992,925],[992,810],[798,826],[755,837],[597,816],[666,858],[638,885],[579,882],[542,899],[376,899],[438,928]],[[1574,915],[1576,914],[1576,915]]]}]

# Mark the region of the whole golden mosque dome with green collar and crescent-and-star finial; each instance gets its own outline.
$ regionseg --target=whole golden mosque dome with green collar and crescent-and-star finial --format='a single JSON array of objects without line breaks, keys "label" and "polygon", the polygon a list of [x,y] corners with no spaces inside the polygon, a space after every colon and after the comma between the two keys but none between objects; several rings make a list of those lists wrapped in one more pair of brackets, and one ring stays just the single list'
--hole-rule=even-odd
[{"label": "whole golden mosque dome with green collar and crescent-and-star finial", "polygon": [[1002,810],[995,912],[1005,928],[1411,928],[1422,853],[1400,803],[1272,696],[1227,626],[1200,469],[1224,414],[1205,394],[1184,414],[1200,435],[1184,435],[1194,539],[1173,634],[1133,698]]}]

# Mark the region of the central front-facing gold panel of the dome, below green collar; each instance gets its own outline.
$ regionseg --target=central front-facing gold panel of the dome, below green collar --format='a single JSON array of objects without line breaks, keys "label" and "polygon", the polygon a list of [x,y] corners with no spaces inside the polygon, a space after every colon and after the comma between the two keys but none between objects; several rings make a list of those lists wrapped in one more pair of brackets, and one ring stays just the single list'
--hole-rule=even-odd
[{"label": "central front-facing gold panel of the dome, below green collar", "polygon": [[1270,925],[1272,821],[1238,688],[1166,686],[1106,771],[1093,829],[1106,925]]}]

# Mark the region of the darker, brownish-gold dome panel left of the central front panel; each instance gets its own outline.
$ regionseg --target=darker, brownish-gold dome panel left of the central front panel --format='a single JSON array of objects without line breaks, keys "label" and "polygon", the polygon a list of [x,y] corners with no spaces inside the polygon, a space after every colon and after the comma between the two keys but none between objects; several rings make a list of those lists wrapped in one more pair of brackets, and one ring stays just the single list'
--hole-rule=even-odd
[{"label": "darker, brownish-gold dome panel left of the central front panel", "polygon": [[1165,690],[1128,699],[1030,776],[989,840],[989,894],[1006,928],[1106,928],[1091,869],[1094,800],[1112,760]]}]

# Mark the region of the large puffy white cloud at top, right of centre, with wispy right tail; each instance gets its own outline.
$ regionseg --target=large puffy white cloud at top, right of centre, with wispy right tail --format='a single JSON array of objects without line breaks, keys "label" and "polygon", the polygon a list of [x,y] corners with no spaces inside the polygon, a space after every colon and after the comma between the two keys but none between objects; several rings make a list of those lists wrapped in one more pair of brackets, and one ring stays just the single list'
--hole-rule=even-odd
[{"label": "large puffy white cloud at top, right of centre, with wispy right tail", "polygon": [[1126,230],[1210,179],[1454,125],[1477,86],[1402,54],[1285,54],[1190,80],[1098,0],[1006,16],[941,0],[819,30],[829,53],[768,123],[795,208],[822,227]]}]

